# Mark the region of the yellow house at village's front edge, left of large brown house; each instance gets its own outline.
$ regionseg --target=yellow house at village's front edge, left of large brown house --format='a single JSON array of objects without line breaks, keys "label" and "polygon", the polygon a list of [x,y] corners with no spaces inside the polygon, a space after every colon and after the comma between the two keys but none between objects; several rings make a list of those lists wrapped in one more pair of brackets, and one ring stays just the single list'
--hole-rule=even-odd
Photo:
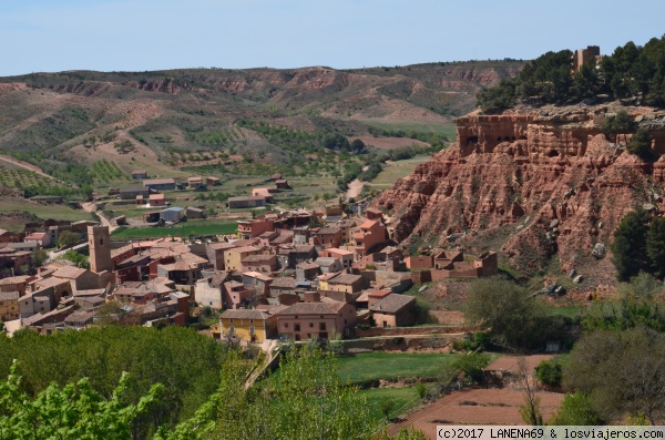
[{"label": "yellow house at village's front edge, left of large brown house", "polygon": [[263,342],[277,336],[277,317],[266,310],[228,309],[219,317],[223,335],[235,335],[245,342]]}]

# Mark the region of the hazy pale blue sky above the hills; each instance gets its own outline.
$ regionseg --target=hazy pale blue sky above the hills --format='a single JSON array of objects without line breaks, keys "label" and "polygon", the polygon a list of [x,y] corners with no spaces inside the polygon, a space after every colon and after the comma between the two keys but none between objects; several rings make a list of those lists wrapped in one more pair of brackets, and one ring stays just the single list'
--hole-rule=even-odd
[{"label": "hazy pale blue sky above the hills", "polygon": [[0,75],[611,53],[664,17],[663,0],[1,0]]}]

